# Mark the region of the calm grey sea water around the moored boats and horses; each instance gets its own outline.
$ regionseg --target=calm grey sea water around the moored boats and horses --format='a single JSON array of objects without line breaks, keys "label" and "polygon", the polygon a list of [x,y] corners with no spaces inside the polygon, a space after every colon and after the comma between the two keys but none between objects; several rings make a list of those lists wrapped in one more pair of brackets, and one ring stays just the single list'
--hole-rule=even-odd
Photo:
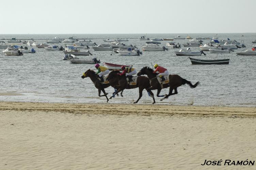
[{"label": "calm grey sea water around the moored boats and horses", "polygon": [[[241,35],[244,35],[243,37]],[[103,39],[127,38],[127,45],[136,45],[138,48],[145,44],[137,38],[143,34],[16,34],[0,35],[0,39],[42,39],[67,38],[92,38],[93,42],[100,44]],[[173,38],[178,34],[146,34],[148,38]],[[219,37],[219,39],[244,40],[246,48],[236,51],[251,49],[252,40],[256,39],[256,33],[232,33],[232,34],[179,34],[181,37]],[[176,43],[185,43],[188,40],[174,40]],[[210,40],[204,40],[208,43]],[[45,40],[38,40],[39,43]],[[165,45],[168,41],[162,42]],[[59,44],[60,46],[60,44]],[[31,47],[30,47],[31,48]],[[182,47],[185,48],[185,47]],[[191,47],[199,50],[199,47]],[[230,106],[256,106],[255,86],[255,56],[237,56],[235,52],[230,54],[210,54],[196,56],[195,58],[217,59],[230,58],[229,65],[191,65],[186,56],[176,56],[169,51],[151,52],[145,51],[141,56],[120,56],[111,51],[90,52],[92,56],[79,56],[79,58],[96,57],[103,62],[133,65],[138,71],[144,66],[158,63],[166,67],[171,74],[179,74],[182,78],[193,84],[199,81],[201,84],[194,89],[188,85],[178,88],[178,94],[170,96],[158,104],[193,104],[193,105],[230,105]],[[110,55],[113,54],[113,55]],[[4,56],[0,53],[0,92],[17,92],[23,96],[0,96],[1,101],[34,101],[34,102],[63,102],[63,103],[90,103],[106,102],[105,97],[98,97],[98,90],[89,78],[81,79],[81,75],[87,69],[94,68],[90,64],[70,64],[61,60],[62,51],[47,51],[37,49],[35,54],[25,53],[23,56]],[[102,64],[101,63],[101,64]],[[110,94],[113,88],[106,91]],[[156,95],[156,90],[153,91]],[[169,89],[162,89],[161,94],[167,94]],[[124,97],[115,97],[109,103],[130,103],[138,98],[138,88],[124,91]],[[109,95],[110,97],[110,95]],[[152,99],[143,92],[139,103],[151,103]]]}]

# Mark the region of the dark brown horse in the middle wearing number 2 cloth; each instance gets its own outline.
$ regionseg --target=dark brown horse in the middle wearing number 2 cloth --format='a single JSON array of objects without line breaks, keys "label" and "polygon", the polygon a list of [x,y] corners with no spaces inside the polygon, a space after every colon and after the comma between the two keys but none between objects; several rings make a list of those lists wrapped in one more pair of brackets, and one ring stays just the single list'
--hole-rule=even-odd
[{"label": "dark brown horse in the middle wearing number 2 cloth", "polygon": [[150,87],[149,84],[149,79],[145,76],[139,76],[137,78],[137,82],[136,85],[128,85],[127,80],[126,80],[126,75],[118,75],[117,73],[119,73],[120,70],[113,70],[109,73],[107,80],[109,81],[109,84],[111,86],[114,86],[114,88],[118,89],[113,96],[110,97],[110,99],[112,97],[114,97],[116,94],[118,94],[119,91],[122,91],[124,89],[132,89],[132,88],[137,88],[139,87],[139,98],[136,102],[133,103],[138,103],[138,101],[140,100],[140,98],[142,97],[142,91],[144,89],[147,90],[148,94],[150,94],[150,97],[153,98],[153,103],[156,103],[155,101],[155,97],[154,94],[151,90],[149,90],[148,88]]}]

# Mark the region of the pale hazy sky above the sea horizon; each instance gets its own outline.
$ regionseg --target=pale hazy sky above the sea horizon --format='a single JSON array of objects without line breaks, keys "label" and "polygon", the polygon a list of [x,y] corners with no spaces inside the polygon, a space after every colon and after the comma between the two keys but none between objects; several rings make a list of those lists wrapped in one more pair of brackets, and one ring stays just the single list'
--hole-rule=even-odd
[{"label": "pale hazy sky above the sea horizon", "polygon": [[0,34],[256,32],[255,0],[1,0]]}]

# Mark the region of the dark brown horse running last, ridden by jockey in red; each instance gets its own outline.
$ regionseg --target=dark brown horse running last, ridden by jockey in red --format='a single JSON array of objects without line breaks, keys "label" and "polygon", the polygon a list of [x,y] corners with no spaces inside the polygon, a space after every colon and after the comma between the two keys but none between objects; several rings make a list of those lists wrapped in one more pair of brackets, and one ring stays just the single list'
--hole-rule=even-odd
[{"label": "dark brown horse running last, ridden by jockey in red", "polygon": [[[143,74],[146,74],[147,77],[150,79],[150,85],[151,87],[149,88],[149,90],[155,90],[157,89],[157,97],[163,97],[163,96],[159,96],[159,93],[162,89],[161,87],[161,84],[158,82],[157,80],[157,73],[153,73],[153,69],[149,68],[149,67],[143,67],[137,75],[143,75]],[[184,85],[184,84],[188,84],[191,88],[195,88],[199,82],[196,82],[194,85],[190,82],[190,81],[187,81],[186,79],[183,79],[181,78],[179,75],[177,74],[170,74],[169,75],[169,83],[166,83],[166,84],[163,84],[163,88],[167,88],[167,87],[170,87],[170,90],[169,90],[169,94],[166,95],[164,98],[161,99],[164,100],[164,99],[167,99],[169,96],[171,95],[176,95],[178,94],[178,91],[177,91],[177,87],[181,86],[181,85]],[[174,89],[174,93],[172,93]]]}]

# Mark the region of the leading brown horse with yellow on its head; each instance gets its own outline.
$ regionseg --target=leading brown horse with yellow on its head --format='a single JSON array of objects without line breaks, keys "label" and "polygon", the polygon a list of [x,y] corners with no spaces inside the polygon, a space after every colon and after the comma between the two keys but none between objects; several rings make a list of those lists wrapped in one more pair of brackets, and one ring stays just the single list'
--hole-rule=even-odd
[{"label": "leading brown horse with yellow on its head", "polygon": [[[99,92],[99,97],[102,96],[106,96],[107,98],[107,102],[109,101],[108,97],[107,97],[107,93],[105,92],[105,88],[109,87],[110,84],[106,83],[106,84],[102,84],[100,83],[99,79],[97,78],[97,74],[95,73],[95,71],[88,69],[87,71],[85,71],[83,73],[83,75],[81,76],[82,79],[86,78],[86,77],[90,77],[90,79],[92,80],[92,82],[94,83],[94,86],[98,89]],[[118,83],[118,82],[117,82]],[[113,86],[112,86],[113,87]],[[100,95],[100,92],[103,92],[104,95]],[[121,96],[122,96],[123,91],[121,92]],[[113,93],[114,94],[114,93]],[[122,96],[123,97],[123,96]]]}]

